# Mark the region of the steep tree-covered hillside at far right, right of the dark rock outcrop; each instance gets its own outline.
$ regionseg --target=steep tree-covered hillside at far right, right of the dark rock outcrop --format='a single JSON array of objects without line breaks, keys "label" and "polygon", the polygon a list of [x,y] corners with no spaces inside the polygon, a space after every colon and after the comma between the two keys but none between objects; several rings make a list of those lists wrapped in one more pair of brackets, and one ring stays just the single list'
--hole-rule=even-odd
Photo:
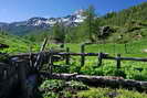
[{"label": "steep tree-covered hillside at far right, right of the dark rock outcrop", "polygon": [[119,11],[107,13],[102,18],[104,25],[115,29],[108,42],[127,43],[147,39],[147,2]]}]

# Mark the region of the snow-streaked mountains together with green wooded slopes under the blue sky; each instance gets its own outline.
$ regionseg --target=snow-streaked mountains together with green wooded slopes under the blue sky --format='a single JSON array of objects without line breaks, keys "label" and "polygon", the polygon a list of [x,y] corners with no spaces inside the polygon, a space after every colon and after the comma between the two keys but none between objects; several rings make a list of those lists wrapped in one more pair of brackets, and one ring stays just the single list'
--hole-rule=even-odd
[{"label": "snow-streaked mountains together with green wooded slopes under the blue sky", "polygon": [[[83,10],[62,18],[31,18],[22,22],[0,23],[0,29],[10,34],[25,35],[24,39],[32,42],[40,42],[49,35],[53,41],[66,43],[102,42],[104,40],[108,43],[127,43],[147,39],[146,12],[147,2],[144,2],[101,18],[95,15],[92,19],[91,29]],[[108,30],[106,33],[102,33],[99,28],[107,25],[113,32]]]}]

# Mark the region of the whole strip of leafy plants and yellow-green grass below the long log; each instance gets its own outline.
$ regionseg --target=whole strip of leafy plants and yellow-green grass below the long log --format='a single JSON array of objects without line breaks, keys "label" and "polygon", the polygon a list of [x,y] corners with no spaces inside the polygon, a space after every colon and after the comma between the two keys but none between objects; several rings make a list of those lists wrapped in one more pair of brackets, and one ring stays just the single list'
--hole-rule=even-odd
[{"label": "whole strip of leafy plants and yellow-green grass below the long log", "polygon": [[94,88],[80,81],[50,79],[40,86],[43,98],[146,98],[147,94],[127,89]]}]

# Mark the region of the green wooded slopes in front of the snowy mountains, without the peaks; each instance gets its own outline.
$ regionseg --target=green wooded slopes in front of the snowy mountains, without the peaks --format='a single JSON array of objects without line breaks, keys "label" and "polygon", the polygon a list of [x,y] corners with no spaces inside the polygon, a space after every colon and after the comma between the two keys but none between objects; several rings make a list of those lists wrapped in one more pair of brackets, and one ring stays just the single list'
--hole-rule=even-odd
[{"label": "green wooded slopes in front of the snowy mountains, without the peaks", "polygon": [[[86,9],[86,11],[88,9]],[[124,9],[119,12],[107,13],[101,18],[95,15],[95,18],[91,19],[91,29],[90,21],[85,20],[81,23],[81,25],[71,28],[61,25],[63,28],[62,30],[52,28],[52,31],[45,31],[46,33],[42,33],[39,36],[33,34],[33,37],[35,36],[38,40],[41,39],[41,36],[45,36],[46,34],[51,35],[51,32],[53,33],[55,31],[55,36],[53,35],[52,37],[62,37],[62,40],[64,40],[66,43],[81,43],[90,41],[102,42],[104,40],[107,43],[128,43],[132,41],[145,40],[147,39],[146,12],[147,2],[144,2],[138,6]],[[92,13],[95,14],[94,11]],[[109,29],[102,33],[99,29],[102,26],[108,26]],[[62,33],[64,35],[60,35]]]}]

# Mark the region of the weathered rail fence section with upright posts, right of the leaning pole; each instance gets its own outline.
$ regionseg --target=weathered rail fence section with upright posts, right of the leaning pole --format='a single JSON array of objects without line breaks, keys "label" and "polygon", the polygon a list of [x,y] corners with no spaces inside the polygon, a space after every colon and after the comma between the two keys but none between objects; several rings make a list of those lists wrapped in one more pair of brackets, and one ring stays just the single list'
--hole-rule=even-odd
[{"label": "weathered rail fence section with upright posts, right of the leaning pole", "polygon": [[[135,61],[135,62],[147,62],[147,58],[143,57],[122,57],[120,54],[117,54],[115,57],[109,56],[108,53],[85,53],[85,45],[90,45],[91,43],[82,44],[81,45],[81,53],[71,53],[70,47],[66,47],[64,53],[50,53],[52,56],[60,55],[65,58],[65,64],[70,65],[70,59],[72,56],[81,56],[81,66],[85,65],[86,56],[96,56],[97,57],[97,66],[101,66],[103,59],[116,61],[116,67],[122,67],[122,61]],[[52,58],[51,58],[52,59]],[[50,63],[53,66],[53,61]]]}]

